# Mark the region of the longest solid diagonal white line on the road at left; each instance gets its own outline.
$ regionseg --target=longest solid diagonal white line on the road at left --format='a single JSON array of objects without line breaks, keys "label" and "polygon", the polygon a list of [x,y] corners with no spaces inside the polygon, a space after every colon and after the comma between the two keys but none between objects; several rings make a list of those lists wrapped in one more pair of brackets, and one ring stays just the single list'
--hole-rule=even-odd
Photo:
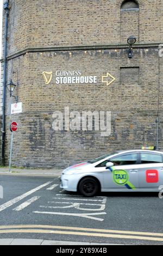
[{"label": "longest solid diagonal white line on the road at left", "polygon": [[45,187],[45,186],[47,186],[47,185],[49,185],[49,184],[51,184],[51,183],[52,183],[52,181],[48,181],[48,182],[46,182],[46,183],[44,183],[44,184],[42,184],[42,185],[40,185],[40,186],[34,188],[33,190],[30,190],[30,191],[28,191],[28,192],[22,194],[21,196],[18,196],[18,197],[16,197],[16,198],[14,198],[14,199],[8,201],[7,203],[4,203],[4,204],[0,205],[0,211],[3,211],[4,209],[10,207],[11,205],[13,205],[13,204],[19,202],[19,201],[22,200],[23,198],[28,197],[30,194],[32,194],[32,193],[34,193],[34,192],[40,190],[42,187]]}]

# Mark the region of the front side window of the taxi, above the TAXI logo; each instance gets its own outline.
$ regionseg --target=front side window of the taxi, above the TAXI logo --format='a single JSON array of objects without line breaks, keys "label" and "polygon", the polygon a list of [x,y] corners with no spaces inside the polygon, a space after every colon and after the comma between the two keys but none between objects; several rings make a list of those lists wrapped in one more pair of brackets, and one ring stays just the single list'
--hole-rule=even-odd
[{"label": "front side window of the taxi, above the TAXI logo", "polygon": [[137,154],[127,154],[122,156],[115,156],[110,159],[110,162],[114,163],[114,166],[122,166],[126,164],[136,164]]}]

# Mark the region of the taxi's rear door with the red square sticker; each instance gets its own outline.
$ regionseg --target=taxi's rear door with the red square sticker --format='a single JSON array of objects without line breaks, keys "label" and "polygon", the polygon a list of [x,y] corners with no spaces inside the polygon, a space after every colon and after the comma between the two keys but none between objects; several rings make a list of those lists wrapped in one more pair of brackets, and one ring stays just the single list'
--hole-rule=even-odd
[{"label": "taxi's rear door with the red square sticker", "polygon": [[145,190],[158,190],[163,185],[162,155],[153,152],[140,153],[139,187]]}]

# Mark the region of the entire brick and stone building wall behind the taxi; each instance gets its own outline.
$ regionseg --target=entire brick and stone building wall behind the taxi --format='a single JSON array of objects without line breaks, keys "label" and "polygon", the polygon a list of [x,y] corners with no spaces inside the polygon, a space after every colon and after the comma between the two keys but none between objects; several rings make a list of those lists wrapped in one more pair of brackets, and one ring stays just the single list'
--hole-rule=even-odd
[{"label": "entire brick and stone building wall behind the taxi", "polygon": [[[16,166],[63,168],[112,150],[156,145],[157,117],[163,150],[163,57],[158,50],[163,0],[137,1],[138,10],[128,10],[128,5],[122,10],[122,2],[10,1],[7,80],[17,84],[14,93],[23,112],[11,115],[14,99],[7,93],[7,164],[13,119],[18,123]],[[129,59],[126,41],[131,34],[137,42]],[[52,72],[48,84],[45,71]],[[57,71],[80,71],[79,76],[96,76],[97,83],[57,84]],[[115,78],[111,84],[107,73]],[[110,135],[95,130],[54,131],[53,113],[64,114],[65,107],[78,111],[81,121],[82,111],[111,112]]]}]

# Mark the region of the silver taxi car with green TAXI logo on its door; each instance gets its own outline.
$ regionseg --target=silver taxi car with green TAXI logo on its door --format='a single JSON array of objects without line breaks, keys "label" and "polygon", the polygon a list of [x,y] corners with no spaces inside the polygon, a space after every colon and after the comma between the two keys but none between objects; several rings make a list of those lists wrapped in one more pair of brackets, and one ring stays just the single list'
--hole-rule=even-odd
[{"label": "silver taxi car with green TAXI logo on its door", "polygon": [[163,153],[123,150],[66,168],[61,188],[92,197],[102,192],[151,192],[163,185]]}]

